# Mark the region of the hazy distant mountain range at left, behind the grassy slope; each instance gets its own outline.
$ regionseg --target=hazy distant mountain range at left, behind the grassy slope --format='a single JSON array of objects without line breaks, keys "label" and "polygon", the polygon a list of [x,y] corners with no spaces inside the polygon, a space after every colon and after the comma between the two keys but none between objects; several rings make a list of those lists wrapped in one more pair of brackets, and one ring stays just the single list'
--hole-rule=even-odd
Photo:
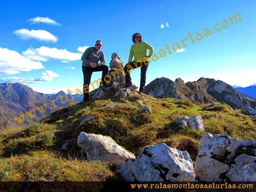
[{"label": "hazy distant mountain range at left, behind the grassy slope", "polygon": [[0,129],[37,122],[82,98],[82,95],[67,95],[63,91],[45,95],[21,83],[0,83]]}]

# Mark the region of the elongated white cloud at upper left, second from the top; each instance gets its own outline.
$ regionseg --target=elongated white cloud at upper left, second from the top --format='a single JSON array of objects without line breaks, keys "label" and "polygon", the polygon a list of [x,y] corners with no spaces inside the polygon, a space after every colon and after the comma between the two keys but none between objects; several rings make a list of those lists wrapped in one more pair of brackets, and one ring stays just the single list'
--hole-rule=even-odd
[{"label": "elongated white cloud at upper left, second from the top", "polygon": [[36,40],[40,40],[40,41],[52,41],[52,42],[58,41],[58,37],[52,35],[52,33],[45,30],[32,29],[29,31],[28,29],[22,28],[14,31],[14,34],[24,39],[35,38]]}]

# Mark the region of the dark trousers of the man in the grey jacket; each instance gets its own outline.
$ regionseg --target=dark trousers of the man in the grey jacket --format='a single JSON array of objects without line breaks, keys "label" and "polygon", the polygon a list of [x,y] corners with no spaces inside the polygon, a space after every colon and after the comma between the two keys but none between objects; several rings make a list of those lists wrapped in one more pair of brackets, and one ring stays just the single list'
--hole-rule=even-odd
[{"label": "dark trousers of the man in the grey jacket", "polygon": [[105,85],[106,81],[109,81],[109,78],[107,77],[109,72],[109,67],[106,65],[98,66],[95,68],[82,66],[82,71],[83,71],[83,99],[85,101],[88,101],[89,100],[88,88],[90,86],[92,72],[102,71],[101,83]]}]

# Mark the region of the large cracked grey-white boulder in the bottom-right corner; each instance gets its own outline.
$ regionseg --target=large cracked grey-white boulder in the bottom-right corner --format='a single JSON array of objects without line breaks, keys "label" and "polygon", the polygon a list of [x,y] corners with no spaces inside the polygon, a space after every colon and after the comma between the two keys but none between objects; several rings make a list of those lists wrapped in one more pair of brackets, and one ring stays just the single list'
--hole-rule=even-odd
[{"label": "large cracked grey-white boulder in the bottom-right corner", "polygon": [[227,134],[205,134],[195,163],[200,181],[255,181],[256,140],[237,140]]}]

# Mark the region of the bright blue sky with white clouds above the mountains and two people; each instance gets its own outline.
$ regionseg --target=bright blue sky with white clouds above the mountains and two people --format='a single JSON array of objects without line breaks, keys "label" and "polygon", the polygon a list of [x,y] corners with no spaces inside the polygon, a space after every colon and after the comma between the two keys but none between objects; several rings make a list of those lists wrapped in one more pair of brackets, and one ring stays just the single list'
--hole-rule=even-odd
[{"label": "bright blue sky with white clouds above the mountains and two people", "polygon": [[[249,86],[256,83],[255,10],[255,1],[3,1],[0,82],[22,82],[43,93],[82,90],[82,51],[98,39],[109,65],[112,52],[127,62],[135,32],[158,56],[165,43],[189,39],[189,32],[196,39],[199,32],[200,41],[189,39],[185,48],[151,62],[146,85],[157,77],[208,77]],[[238,13],[242,21],[231,24]],[[227,28],[221,27],[225,19]],[[204,29],[214,31],[216,23],[221,30],[205,37]],[[91,80],[100,76],[95,72]],[[139,85],[140,69],[131,77]]]}]

